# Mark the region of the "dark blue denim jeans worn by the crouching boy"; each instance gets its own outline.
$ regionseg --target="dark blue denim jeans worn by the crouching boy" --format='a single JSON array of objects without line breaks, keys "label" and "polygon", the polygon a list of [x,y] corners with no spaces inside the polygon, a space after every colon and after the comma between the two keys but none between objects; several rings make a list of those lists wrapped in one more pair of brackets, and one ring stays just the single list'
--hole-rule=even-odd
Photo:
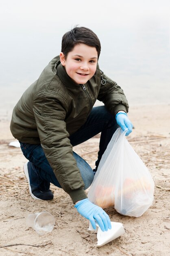
[{"label": "dark blue denim jeans worn by the crouching boy", "polygon": [[[94,107],[85,124],[71,135],[69,139],[72,146],[76,146],[101,132],[98,159],[96,161],[97,170],[100,159],[117,128],[118,124],[116,123],[115,117],[106,110],[105,106]],[[61,188],[48,160],[46,159],[41,144],[36,145],[20,142],[20,145],[24,156],[33,163],[33,169],[40,179]],[[84,189],[87,189],[94,179],[94,171],[83,158],[75,152],[73,152],[73,155],[85,183]]]}]

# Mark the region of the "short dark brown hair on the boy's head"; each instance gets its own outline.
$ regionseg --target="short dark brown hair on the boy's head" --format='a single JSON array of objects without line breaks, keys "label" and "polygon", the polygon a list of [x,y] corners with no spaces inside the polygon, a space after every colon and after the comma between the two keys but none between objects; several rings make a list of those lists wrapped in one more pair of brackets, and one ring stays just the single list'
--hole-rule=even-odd
[{"label": "short dark brown hair on the boy's head", "polygon": [[74,46],[80,43],[96,47],[99,58],[101,50],[100,40],[96,34],[87,27],[74,27],[74,29],[66,32],[62,38],[61,52],[67,57],[67,54],[72,51]]}]

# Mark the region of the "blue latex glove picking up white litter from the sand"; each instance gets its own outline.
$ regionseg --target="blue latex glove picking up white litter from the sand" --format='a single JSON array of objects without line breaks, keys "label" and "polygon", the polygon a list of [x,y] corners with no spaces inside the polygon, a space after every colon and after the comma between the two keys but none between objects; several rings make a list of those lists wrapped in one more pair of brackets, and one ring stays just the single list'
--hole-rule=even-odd
[{"label": "blue latex glove picking up white litter from the sand", "polygon": [[93,204],[89,199],[83,199],[74,206],[78,213],[89,220],[92,227],[96,229],[95,220],[102,231],[107,231],[108,228],[111,229],[111,221],[107,213],[96,204]]}]

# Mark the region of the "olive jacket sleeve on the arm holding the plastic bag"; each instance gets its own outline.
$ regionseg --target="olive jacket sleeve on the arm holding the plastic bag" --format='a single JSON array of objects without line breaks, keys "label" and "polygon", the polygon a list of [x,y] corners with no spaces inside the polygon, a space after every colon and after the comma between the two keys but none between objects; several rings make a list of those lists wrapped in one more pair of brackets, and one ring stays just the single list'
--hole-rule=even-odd
[{"label": "olive jacket sleeve on the arm holding the plastic bag", "polygon": [[97,99],[102,101],[107,110],[113,115],[116,115],[120,110],[124,110],[127,113],[129,104],[123,90],[102,71],[100,71],[100,76],[101,86]]}]

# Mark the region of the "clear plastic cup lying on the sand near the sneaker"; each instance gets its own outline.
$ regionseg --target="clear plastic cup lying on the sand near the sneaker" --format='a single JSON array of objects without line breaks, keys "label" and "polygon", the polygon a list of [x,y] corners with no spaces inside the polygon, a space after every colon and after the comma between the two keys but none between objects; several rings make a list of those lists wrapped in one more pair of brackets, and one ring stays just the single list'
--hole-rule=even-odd
[{"label": "clear plastic cup lying on the sand near the sneaker", "polygon": [[29,214],[26,218],[26,225],[32,227],[40,236],[52,232],[54,224],[54,217],[47,211]]}]

